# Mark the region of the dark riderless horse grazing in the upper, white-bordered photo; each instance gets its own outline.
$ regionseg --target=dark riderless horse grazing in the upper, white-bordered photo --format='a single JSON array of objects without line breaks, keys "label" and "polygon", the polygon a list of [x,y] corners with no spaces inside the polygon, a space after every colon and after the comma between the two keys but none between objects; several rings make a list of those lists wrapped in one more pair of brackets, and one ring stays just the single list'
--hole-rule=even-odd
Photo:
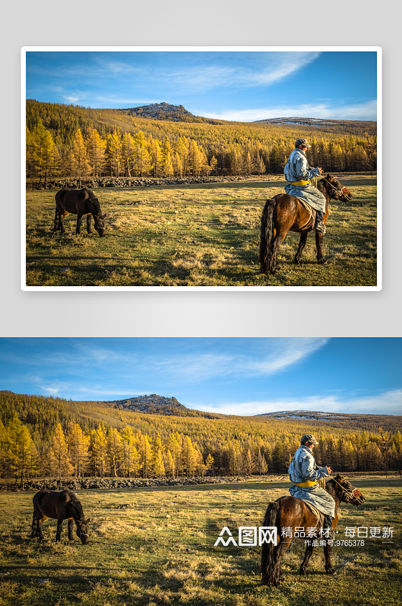
[{"label": "dark riderless horse grazing in the upper, white-bordered photo", "polygon": [[91,217],[93,216],[95,229],[99,233],[99,236],[106,235],[106,213],[102,215],[99,200],[93,191],[88,190],[86,187],[82,188],[82,190],[73,190],[68,187],[59,190],[56,193],[56,213],[54,215],[53,231],[59,229],[62,233],[65,232],[63,220],[68,213],[70,215],[77,215],[76,234],[79,234],[82,216],[87,215],[88,233],[92,233]]}]

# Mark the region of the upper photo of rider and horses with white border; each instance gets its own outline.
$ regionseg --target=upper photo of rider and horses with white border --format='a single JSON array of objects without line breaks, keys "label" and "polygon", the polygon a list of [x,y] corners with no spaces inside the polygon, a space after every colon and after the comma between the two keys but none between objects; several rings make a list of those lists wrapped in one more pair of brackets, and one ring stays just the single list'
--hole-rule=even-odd
[{"label": "upper photo of rider and horses with white border", "polygon": [[21,58],[22,290],[381,290],[381,48]]}]

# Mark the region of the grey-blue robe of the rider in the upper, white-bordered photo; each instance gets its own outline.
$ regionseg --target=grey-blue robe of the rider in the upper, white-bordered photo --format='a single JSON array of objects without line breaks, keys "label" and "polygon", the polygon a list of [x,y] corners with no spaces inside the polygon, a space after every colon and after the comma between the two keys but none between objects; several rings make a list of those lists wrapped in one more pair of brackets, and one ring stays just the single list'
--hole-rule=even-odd
[{"label": "grey-blue robe of the rider in the upper, white-bordered photo", "polygon": [[292,185],[291,183],[292,181],[309,181],[309,179],[320,176],[318,168],[309,167],[305,151],[296,147],[289,156],[283,172],[286,181],[289,181],[289,184],[285,185],[286,193],[296,196],[296,198],[303,198],[312,208],[325,213],[325,196],[318,191],[317,187],[311,183],[308,185]]}]

